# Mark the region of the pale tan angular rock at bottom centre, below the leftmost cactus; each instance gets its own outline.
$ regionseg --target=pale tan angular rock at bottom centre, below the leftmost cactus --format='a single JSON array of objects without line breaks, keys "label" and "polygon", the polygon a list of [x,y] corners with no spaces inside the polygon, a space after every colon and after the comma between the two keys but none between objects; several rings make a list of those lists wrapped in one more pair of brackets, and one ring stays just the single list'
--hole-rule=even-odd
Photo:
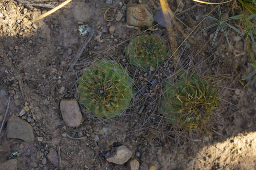
[{"label": "pale tan angular rock at bottom centre, below the leftmost cactus", "polygon": [[121,146],[117,147],[116,151],[113,153],[115,153],[115,154],[108,157],[107,161],[113,162],[113,163],[119,164],[119,165],[122,165],[125,162],[127,162],[132,156],[132,152],[125,145],[121,145]]}]

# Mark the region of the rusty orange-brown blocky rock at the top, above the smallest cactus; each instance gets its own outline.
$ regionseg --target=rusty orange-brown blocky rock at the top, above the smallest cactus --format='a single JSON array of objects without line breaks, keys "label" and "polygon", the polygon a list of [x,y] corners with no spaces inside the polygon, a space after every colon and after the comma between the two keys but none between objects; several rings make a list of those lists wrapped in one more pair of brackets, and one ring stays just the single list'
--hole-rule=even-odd
[{"label": "rusty orange-brown blocky rock at the top, above the smallest cactus", "polygon": [[145,4],[127,5],[127,25],[128,26],[151,26],[153,15],[147,10]]}]

